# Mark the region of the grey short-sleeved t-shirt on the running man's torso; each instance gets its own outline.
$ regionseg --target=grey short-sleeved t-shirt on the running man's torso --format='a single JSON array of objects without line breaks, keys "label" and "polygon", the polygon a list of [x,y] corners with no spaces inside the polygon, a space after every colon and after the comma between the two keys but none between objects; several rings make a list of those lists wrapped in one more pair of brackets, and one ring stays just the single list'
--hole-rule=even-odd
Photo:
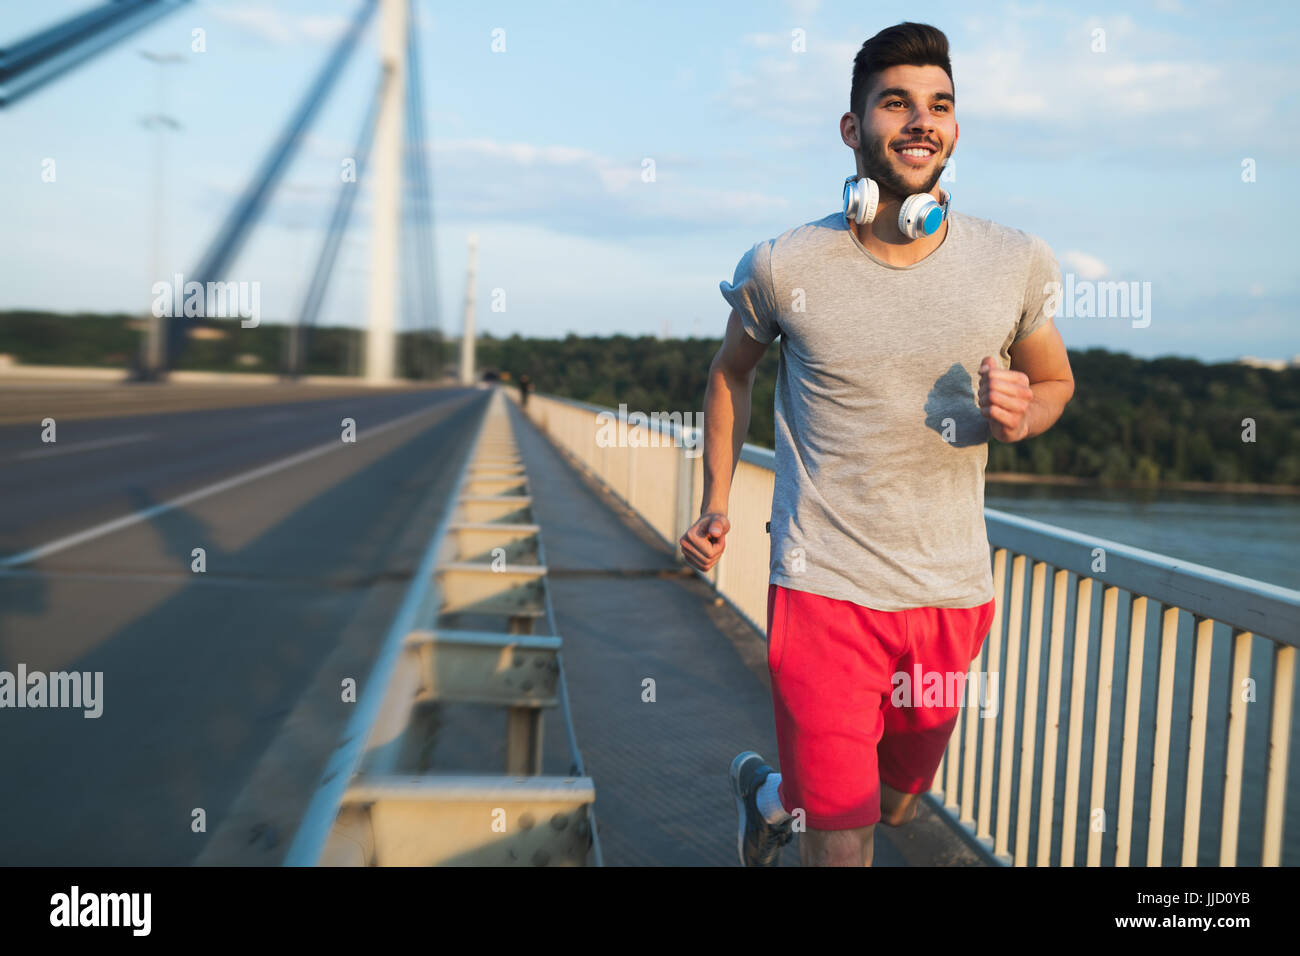
[{"label": "grey short-sleeved t-shirt on the running man's torso", "polygon": [[774,584],[883,611],[993,597],[979,365],[1010,368],[1060,278],[1043,239],[956,211],[909,267],[842,212],[745,254],[723,298],[754,339],[781,337]]}]

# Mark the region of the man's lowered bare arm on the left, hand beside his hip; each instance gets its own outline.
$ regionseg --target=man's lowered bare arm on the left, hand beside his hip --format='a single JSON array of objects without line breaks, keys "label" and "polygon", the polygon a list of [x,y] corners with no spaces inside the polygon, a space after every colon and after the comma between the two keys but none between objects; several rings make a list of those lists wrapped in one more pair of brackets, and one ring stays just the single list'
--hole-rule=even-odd
[{"label": "man's lowered bare arm on the left, hand beside his hip", "polygon": [[701,571],[708,571],[718,563],[725,548],[725,535],[731,531],[727,502],[749,432],[755,369],[766,351],[767,346],[745,332],[740,315],[732,310],[723,345],[708,365],[708,386],[705,389],[705,492],[699,520],[686,529],[680,541],[682,555]]}]

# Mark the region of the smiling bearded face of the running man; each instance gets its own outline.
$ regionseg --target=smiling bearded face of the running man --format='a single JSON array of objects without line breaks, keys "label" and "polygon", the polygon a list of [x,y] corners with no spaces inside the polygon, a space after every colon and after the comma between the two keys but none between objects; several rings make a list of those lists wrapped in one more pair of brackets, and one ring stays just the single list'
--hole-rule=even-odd
[{"label": "smiling bearded face of the running man", "polygon": [[875,77],[855,152],[881,194],[930,193],[954,146],[953,85],[941,66],[890,66]]}]

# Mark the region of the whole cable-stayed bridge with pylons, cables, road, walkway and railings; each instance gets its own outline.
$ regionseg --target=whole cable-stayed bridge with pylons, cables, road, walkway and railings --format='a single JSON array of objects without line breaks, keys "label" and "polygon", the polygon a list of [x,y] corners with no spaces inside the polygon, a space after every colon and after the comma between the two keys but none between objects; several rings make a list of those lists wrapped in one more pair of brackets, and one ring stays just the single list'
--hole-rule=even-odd
[{"label": "whole cable-stayed bridge with pylons, cables, road, walkway and railings", "polygon": [[[0,105],[181,5],[104,4],[6,47]],[[477,381],[472,264],[443,369],[404,0],[359,4],[191,277],[230,278],[377,10],[361,376],[300,375],[346,183],[282,376],[177,371],[183,313],[151,316],[131,371],[0,375],[0,861],[736,862],[728,762],[776,752],[774,455],[745,446],[699,575],[675,544],[698,433],[641,415],[610,442],[614,410]],[[398,372],[402,308],[438,346],[421,377]],[[963,708],[875,864],[1300,862],[1300,592],[985,518],[997,614],[972,670],[993,706]]]}]

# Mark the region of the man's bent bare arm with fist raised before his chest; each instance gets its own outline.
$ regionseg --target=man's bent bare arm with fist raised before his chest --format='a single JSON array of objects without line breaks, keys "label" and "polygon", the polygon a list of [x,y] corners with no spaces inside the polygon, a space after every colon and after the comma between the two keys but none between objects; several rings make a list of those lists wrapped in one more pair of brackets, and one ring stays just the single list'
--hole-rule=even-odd
[{"label": "man's bent bare arm with fist raised before his chest", "polygon": [[979,410],[998,441],[1032,438],[1052,428],[1074,395],[1070,356],[1056,324],[1043,325],[1010,347],[1011,367],[980,363]]}]

